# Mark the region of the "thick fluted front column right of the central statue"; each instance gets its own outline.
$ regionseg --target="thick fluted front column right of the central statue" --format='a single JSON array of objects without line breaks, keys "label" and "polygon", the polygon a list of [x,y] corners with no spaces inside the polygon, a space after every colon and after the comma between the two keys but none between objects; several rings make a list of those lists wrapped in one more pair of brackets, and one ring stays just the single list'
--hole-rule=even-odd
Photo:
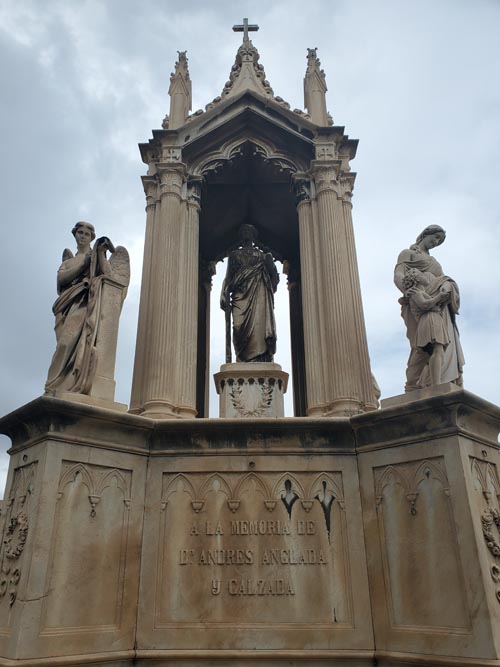
[{"label": "thick fluted front column right of the central statue", "polygon": [[[318,207],[320,267],[326,315],[327,412],[349,415],[363,412],[367,405],[366,377],[371,377],[367,357],[360,358],[366,346],[361,303],[357,298],[359,278],[352,223],[344,216],[339,182],[339,160],[315,160],[312,174]],[[357,288],[354,288],[354,285]],[[358,339],[361,338],[363,342]]]}]

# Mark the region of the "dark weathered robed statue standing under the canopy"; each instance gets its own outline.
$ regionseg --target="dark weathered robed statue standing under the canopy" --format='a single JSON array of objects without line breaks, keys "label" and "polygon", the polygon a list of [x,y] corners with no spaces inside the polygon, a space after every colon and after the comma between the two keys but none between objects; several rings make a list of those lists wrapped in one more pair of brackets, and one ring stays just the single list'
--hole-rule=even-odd
[{"label": "dark weathered robed statue standing under the canopy", "polygon": [[273,361],[276,352],[274,293],[278,271],[257,245],[257,230],[242,225],[239,247],[229,253],[220,306],[226,313],[226,361],[231,362],[231,315],[236,361]]}]

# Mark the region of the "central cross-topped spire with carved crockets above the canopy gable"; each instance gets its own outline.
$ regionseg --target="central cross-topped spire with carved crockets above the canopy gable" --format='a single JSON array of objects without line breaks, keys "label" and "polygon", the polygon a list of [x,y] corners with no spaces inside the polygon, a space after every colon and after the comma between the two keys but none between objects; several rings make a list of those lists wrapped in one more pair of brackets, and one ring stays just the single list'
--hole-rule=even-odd
[{"label": "central cross-topped spire with carved crockets above the canopy gable", "polygon": [[233,26],[234,32],[243,33],[243,44],[238,49],[236,60],[229,74],[229,81],[221,93],[223,98],[236,95],[244,90],[255,90],[266,97],[273,96],[273,89],[266,80],[264,67],[259,64],[259,52],[248,38],[249,32],[255,32],[258,29],[258,25],[249,25],[248,19],[243,19],[242,25]]}]

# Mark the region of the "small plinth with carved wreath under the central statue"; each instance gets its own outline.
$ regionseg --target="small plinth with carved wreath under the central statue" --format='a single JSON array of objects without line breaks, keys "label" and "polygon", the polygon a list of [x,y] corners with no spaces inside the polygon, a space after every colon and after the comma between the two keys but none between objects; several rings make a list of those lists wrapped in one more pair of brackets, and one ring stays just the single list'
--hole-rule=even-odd
[{"label": "small plinth with carved wreath under the central statue", "polygon": [[288,373],[279,364],[247,362],[223,364],[214,375],[220,417],[284,417],[283,394]]}]

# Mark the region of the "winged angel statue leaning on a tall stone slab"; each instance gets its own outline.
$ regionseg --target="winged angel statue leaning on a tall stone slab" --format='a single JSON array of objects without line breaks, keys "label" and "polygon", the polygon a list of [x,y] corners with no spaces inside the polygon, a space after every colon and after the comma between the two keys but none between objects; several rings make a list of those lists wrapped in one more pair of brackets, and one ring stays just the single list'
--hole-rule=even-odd
[{"label": "winged angel statue leaning on a tall stone slab", "polygon": [[[115,338],[118,334],[119,311],[114,317],[107,312],[115,308],[113,299],[106,299],[104,286],[109,284],[120,291],[118,308],[125,298],[130,280],[129,257],[125,248],[114,247],[107,236],[95,239],[94,226],[89,222],[77,222],[71,230],[77,252],[73,255],[66,248],[63,262],[57,272],[57,293],[52,311],[56,318],[56,351],[50,364],[45,393],[59,392],[90,394],[100,350],[110,349],[101,339]],[[111,253],[108,260],[107,252]],[[105,281],[104,279],[108,279]],[[116,302],[116,299],[114,300]],[[106,331],[101,332],[103,316]],[[116,326],[110,322],[116,321]],[[113,331],[113,328],[115,331]],[[111,344],[113,349],[113,344]],[[109,364],[108,364],[109,365]],[[114,360],[112,363],[114,369]]]}]

